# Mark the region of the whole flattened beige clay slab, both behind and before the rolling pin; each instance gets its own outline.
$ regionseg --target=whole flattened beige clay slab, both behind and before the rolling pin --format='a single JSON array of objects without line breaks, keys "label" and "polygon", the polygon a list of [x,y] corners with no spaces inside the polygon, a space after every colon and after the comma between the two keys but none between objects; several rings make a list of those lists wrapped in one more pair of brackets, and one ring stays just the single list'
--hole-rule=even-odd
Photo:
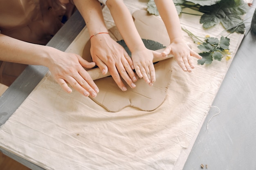
[{"label": "whole flattened beige clay slab, both behind and before the rolling pin", "polygon": [[[135,25],[141,38],[154,40],[164,44],[164,46],[168,45],[168,34],[166,31],[163,31],[165,26],[160,18],[155,15],[148,15],[147,11],[144,10],[136,11],[133,17],[135,18]],[[157,25],[157,28],[155,28],[155,25]],[[109,32],[110,35],[115,36],[113,37],[114,40],[119,40],[118,38],[121,37],[115,27],[111,28]],[[156,43],[155,45],[159,44]],[[88,49],[88,47],[85,47],[85,49]],[[100,92],[97,94],[97,97],[91,99],[109,112],[118,112],[129,106],[145,111],[155,110],[165,100],[166,91],[172,76],[172,61],[172,58],[170,58],[154,65],[156,82],[153,86],[146,84],[144,79],[138,79],[135,82],[136,88],[132,89],[126,84],[127,91],[124,92],[119,89],[112,77],[97,79],[94,82],[99,87]]]}]

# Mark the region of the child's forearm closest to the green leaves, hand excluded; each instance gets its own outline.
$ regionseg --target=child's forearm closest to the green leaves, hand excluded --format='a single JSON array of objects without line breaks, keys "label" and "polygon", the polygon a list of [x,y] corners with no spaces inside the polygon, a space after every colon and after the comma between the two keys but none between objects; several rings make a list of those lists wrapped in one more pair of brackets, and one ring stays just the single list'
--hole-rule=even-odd
[{"label": "child's forearm closest to the green leaves, hand excluded", "polygon": [[164,21],[170,41],[183,40],[180,20],[173,0],[155,0],[155,4]]}]

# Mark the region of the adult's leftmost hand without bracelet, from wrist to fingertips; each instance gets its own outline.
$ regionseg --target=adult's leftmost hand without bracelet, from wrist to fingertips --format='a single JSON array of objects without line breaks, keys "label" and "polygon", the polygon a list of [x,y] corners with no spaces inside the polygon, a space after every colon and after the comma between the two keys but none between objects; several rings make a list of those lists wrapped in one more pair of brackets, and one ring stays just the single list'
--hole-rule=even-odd
[{"label": "adult's leftmost hand without bracelet, from wrist to fingertips", "polygon": [[48,55],[50,57],[46,66],[64,91],[67,93],[72,92],[72,89],[67,85],[69,83],[76,91],[79,91],[79,93],[86,97],[89,95],[92,97],[97,96],[99,88],[83,68],[94,67],[94,62],[87,62],[80,55],[65,53],[53,48],[49,51]]}]

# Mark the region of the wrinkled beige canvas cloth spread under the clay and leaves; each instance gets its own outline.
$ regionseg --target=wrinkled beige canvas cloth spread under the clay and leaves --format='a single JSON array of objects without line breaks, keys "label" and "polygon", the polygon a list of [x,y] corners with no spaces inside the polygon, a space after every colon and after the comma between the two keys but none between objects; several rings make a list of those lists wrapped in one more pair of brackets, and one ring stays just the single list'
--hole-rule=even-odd
[{"label": "wrinkled beige canvas cloth spread under the clay and leaves", "polygon": [[[146,9],[146,1],[125,3],[131,13]],[[108,9],[103,13],[112,28]],[[180,15],[182,26],[195,35],[215,36],[223,30],[221,25],[204,30],[199,18]],[[83,35],[86,28],[67,51],[82,53]],[[233,58],[243,35],[234,33],[229,38]],[[197,65],[192,73],[183,72],[171,59],[173,73],[166,99],[150,112],[127,107],[109,113],[76,91],[65,93],[48,73],[0,128],[0,147],[47,170],[182,169],[200,128],[206,128],[202,122],[232,58]]]}]

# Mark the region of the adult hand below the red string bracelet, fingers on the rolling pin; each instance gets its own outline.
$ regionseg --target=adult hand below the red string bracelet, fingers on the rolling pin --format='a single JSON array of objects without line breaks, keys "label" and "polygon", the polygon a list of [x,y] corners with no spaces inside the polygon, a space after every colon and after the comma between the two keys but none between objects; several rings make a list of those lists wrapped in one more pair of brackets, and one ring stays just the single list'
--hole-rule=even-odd
[{"label": "adult hand below the red string bracelet, fingers on the rolling pin", "polygon": [[[105,75],[108,71],[122,91],[127,88],[121,77],[131,87],[135,88],[134,82],[137,81],[135,73],[132,71],[132,59],[124,48],[110,38],[107,34],[99,34],[91,38],[90,49],[92,60],[99,66]],[[121,76],[121,77],[120,77]]]}]

